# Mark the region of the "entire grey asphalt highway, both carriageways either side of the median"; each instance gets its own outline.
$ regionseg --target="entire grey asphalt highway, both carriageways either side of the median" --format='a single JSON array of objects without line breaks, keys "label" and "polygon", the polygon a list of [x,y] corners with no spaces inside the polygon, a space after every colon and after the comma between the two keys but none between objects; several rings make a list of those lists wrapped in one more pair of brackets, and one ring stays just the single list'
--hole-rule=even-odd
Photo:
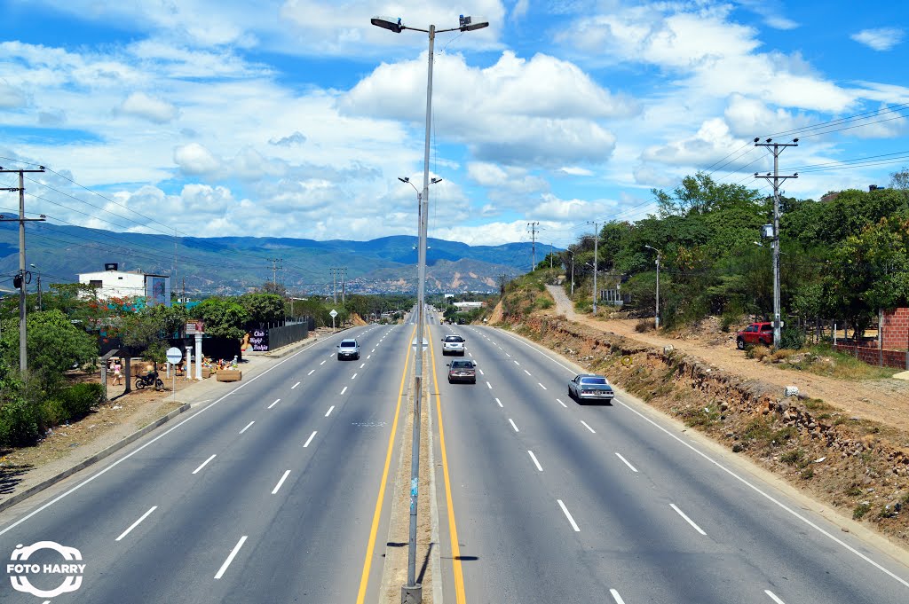
[{"label": "entire grey asphalt highway, both carriageways either side of the median", "polygon": [[[414,315],[224,384],[185,419],[5,510],[0,554],[42,540],[79,550],[81,585],[55,604],[378,601]],[[643,403],[620,392],[578,405],[568,361],[509,332],[428,322],[445,601],[909,601],[909,569]],[[475,385],[446,381],[440,340],[452,332],[477,362]],[[360,360],[335,359],[342,335],[359,339]],[[30,561],[45,560],[61,561]],[[0,601],[50,598],[5,580]]]}]

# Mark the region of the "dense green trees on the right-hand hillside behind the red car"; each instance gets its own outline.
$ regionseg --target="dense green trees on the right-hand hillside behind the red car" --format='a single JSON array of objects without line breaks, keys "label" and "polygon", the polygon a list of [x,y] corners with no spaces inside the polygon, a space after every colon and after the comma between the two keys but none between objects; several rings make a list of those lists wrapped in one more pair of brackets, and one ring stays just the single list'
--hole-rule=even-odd
[{"label": "dense green trees on the right-hand hillside behind the red car", "polygon": [[[893,186],[871,192],[828,193],[821,200],[781,200],[781,301],[791,333],[786,348],[801,348],[815,329],[837,322],[861,337],[878,309],[909,303],[909,191]],[[547,256],[563,267],[565,291],[574,270],[578,312],[591,306],[594,234],[598,289],[618,291],[614,310],[653,317],[656,252],[660,254],[661,327],[673,330],[707,316],[736,329],[749,317],[773,312],[771,248],[761,227],[772,223],[773,200],[740,184],[716,183],[708,174],[684,178],[672,191],[654,190],[655,214],[634,222],[611,221]],[[650,246],[649,248],[646,246]],[[608,312],[609,302],[601,302]],[[785,335],[785,334],[784,334]]]}]

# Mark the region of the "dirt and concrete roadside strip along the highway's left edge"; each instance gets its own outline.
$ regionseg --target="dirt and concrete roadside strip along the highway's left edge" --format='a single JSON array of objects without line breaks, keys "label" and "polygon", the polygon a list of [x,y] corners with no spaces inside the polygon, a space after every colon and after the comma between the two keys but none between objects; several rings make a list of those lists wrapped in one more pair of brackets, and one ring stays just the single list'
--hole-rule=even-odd
[{"label": "dirt and concrete roadside strip along the highway's left edge", "polygon": [[[0,457],[0,510],[24,499],[24,495],[30,496],[64,480],[75,471],[104,459],[118,448],[155,431],[186,411],[223,397],[274,367],[284,357],[314,345],[321,339],[316,334],[276,351],[247,353],[239,365],[243,371],[242,381],[217,381],[215,375],[202,381],[178,377],[176,397],[171,390],[173,375],[167,378],[164,372],[161,374],[161,379],[165,382],[163,391],[134,389],[123,396],[123,387],[108,385],[108,404],[102,405],[80,421],[48,431],[35,447],[9,451]],[[29,493],[29,490],[34,492]]]}]

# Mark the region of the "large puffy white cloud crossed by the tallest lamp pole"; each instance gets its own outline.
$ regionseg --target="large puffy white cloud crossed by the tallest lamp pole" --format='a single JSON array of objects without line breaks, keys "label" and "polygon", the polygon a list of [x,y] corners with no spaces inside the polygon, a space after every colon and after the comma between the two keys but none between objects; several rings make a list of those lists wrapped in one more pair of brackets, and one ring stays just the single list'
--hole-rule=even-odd
[{"label": "large puffy white cloud crossed by the tallest lamp pole", "polygon": [[[440,136],[470,145],[477,159],[515,165],[603,163],[615,137],[600,123],[638,112],[576,65],[545,54],[530,60],[505,52],[477,68],[460,55],[436,58],[434,121]],[[425,54],[382,64],[341,101],[351,114],[421,124],[425,118]]]}]

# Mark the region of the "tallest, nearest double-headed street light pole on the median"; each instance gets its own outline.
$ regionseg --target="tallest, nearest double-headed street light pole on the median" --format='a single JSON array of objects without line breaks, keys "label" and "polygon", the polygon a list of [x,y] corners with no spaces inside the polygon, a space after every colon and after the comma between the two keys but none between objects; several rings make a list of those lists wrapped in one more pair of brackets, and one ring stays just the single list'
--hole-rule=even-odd
[{"label": "tallest, nearest double-headed street light pole on the median", "polygon": [[[435,25],[429,25],[429,29],[420,29],[401,24],[401,19],[397,22],[386,21],[375,17],[370,19],[370,23],[377,27],[400,34],[405,29],[424,32],[429,35],[429,52],[426,77],[426,136],[425,152],[423,162],[423,194],[420,199],[420,223],[419,223],[419,252],[417,253],[418,266],[418,284],[417,284],[417,319],[416,319],[416,363],[415,363],[415,380],[414,380],[414,441],[411,449],[411,472],[410,472],[410,541],[407,550],[407,585],[401,588],[402,604],[419,604],[423,601],[422,586],[416,583],[416,503],[419,492],[420,476],[420,405],[423,396],[423,332],[425,325],[425,282],[426,282],[426,230],[429,214],[429,135],[430,125],[432,124],[433,113],[433,47],[435,45],[435,34],[445,32],[470,32],[474,29],[482,29],[488,26],[486,22],[473,23],[469,16],[461,15],[460,23],[457,27],[450,29],[440,29],[436,32]],[[371,555],[371,554],[367,554]]]}]

